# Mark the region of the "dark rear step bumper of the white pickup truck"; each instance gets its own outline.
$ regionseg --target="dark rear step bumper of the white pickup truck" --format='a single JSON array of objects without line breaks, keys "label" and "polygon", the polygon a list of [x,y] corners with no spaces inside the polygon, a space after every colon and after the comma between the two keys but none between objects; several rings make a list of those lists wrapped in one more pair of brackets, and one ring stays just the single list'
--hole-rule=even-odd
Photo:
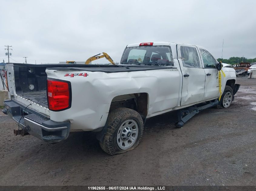
[{"label": "dark rear step bumper of the white pickup truck", "polygon": [[[68,138],[70,131],[70,122],[55,122],[49,118],[36,113],[35,111],[20,105],[13,100],[5,100],[5,110],[14,119],[20,128],[30,135],[33,135],[45,142],[56,143]],[[22,117],[23,112],[25,116]]]}]

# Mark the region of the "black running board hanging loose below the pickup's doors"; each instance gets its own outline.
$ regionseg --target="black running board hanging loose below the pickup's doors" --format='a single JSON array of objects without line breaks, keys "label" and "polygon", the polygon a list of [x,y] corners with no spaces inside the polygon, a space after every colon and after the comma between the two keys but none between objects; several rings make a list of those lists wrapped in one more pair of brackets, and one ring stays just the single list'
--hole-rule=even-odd
[{"label": "black running board hanging loose below the pickup's doors", "polygon": [[219,101],[216,99],[214,102],[208,103],[204,106],[197,107],[196,105],[188,107],[187,110],[179,110],[178,111],[178,122],[175,123],[175,126],[181,128],[184,126],[189,119],[191,119],[194,115],[198,114],[199,111],[208,109],[210,107],[218,105]]}]

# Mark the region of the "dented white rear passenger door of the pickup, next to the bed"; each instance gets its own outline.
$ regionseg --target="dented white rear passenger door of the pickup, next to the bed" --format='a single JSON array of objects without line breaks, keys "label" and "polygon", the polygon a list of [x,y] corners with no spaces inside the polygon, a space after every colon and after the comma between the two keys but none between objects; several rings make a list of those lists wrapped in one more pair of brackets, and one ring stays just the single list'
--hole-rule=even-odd
[{"label": "dented white rear passenger door of the pickup, next to the bed", "polygon": [[177,45],[182,73],[181,106],[198,103],[204,97],[205,73],[196,46]]}]

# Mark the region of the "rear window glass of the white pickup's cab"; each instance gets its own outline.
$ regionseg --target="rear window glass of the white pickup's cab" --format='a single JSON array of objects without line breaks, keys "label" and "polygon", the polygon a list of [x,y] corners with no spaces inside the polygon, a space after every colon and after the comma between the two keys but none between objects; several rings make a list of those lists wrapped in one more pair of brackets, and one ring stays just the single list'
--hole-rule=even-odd
[{"label": "rear window glass of the white pickup's cab", "polygon": [[173,65],[169,46],[136,46],[125,49],[120,64]]}]

